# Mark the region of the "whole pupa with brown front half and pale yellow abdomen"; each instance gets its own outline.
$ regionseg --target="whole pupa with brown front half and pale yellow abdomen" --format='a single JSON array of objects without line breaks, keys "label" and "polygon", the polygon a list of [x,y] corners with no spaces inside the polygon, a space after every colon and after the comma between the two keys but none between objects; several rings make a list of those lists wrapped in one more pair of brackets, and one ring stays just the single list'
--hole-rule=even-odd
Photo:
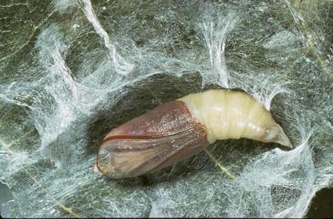
[{"label": "whole pupa with brown front half and pale yellow abdomen", "polygon": [[136,177],[230,138],[276,142],[292,148],[271,113],[249,94],[207,90],[162,103],[112,129],[99,146],[97,168],[112,178]]}]

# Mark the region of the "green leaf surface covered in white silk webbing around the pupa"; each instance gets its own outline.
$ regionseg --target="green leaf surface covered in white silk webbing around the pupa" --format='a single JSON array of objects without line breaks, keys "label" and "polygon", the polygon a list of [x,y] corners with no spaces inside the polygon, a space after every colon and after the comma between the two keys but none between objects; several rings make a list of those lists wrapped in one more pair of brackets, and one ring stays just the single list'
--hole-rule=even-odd
[{"label": "green leaf surface covered in white silk webbing around the pupa", "polygon": [[[3,216],[306,216],[333,181],[332,12],[328,0],[1,1]],[[271,110],[295,149],[223,140],[136,178],[93,172],[112,128],[226,86]]]}]

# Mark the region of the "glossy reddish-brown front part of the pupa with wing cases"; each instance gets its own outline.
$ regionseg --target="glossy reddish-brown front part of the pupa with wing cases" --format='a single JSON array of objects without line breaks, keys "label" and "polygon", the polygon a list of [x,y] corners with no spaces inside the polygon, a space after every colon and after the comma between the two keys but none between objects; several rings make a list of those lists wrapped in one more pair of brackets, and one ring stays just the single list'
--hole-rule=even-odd
[{"label": "glossy reddish-brown front part of the pupa with wing cases", "polygon": [[208,146],[206,131],[185,103],[170,101],[113,129],[104,138],[97,167],[112,178],[171,166]]}]

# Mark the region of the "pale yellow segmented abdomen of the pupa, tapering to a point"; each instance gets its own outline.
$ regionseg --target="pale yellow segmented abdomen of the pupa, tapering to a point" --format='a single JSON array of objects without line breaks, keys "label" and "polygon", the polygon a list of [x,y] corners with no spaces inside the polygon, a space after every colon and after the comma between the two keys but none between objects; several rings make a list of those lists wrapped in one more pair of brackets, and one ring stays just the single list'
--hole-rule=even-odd
[{"label": "pale yellow segmented abdomen of the pupa, tapering to a point", "polygon": [[228,138],[249,138],[290,146],[271,113],[245,92],[207,90],[178,100],[186,103],[192,116],[206,127],[209,143]]}]

